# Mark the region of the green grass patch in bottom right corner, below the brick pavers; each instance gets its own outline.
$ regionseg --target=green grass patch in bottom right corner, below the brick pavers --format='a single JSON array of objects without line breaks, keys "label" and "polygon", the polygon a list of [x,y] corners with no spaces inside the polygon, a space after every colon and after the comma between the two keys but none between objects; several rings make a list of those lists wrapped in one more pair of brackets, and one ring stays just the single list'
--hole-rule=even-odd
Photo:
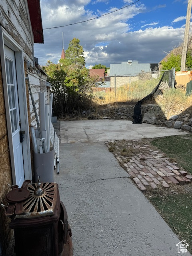
[{"label": "green grass patch in bottom right corner, below the brick pavers", "polygon": [[188,251],[192,252],[192,192],[154,196],[149,200],[180,240],[188,242]]}]

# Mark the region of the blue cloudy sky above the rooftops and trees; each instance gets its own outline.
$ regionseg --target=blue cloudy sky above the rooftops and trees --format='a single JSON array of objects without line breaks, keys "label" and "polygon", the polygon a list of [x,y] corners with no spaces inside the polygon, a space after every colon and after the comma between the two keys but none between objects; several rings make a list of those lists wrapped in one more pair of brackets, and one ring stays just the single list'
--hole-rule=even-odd
[{"label": "blue cloudy sky above the rooftops and trees", "polygon": [[[46,65],[48,60],[58,62],[62,32],[64,50],[73,38],[80,40],[87,68],[95,64],[110,67],[127,60],[160,62],[183,42],[188,1],[138,0],[132,4],[134,2],[136,0],[40,0],[44,44],[34,44],[39,64]],[[82,22],[115,10],[118,11]],[[82,23],[65,26],[76,22]],[[65,27],[52,28],[56,26]]]}]

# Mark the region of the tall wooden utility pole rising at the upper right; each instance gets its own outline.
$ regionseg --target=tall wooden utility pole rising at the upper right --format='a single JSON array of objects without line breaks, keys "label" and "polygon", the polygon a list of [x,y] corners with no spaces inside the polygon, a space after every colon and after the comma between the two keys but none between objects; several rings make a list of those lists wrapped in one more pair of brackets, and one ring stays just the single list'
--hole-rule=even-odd
[{"label": "tall wooden utility pole rising at the upper right", "polygon": [[185,71],[187,45],[188,45],[188,37],[189,37],[189,27],[190,27],[190,20],[191,20],[191,6],[192,6],[192,0],[188,0],[186,24],[185,24],[185,34],[184,34],[183,50],[182,50],[182,57],[181,57],[181,71]]}]

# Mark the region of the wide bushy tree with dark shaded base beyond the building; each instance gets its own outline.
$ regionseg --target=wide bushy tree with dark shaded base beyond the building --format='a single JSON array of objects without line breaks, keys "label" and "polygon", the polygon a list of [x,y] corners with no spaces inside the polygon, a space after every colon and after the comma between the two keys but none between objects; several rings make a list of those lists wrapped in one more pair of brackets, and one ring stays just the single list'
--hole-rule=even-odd
[{"label": "wide bushy tree with dark shaded base beyond the building", "polygon": [[49,60],[42,69],[52,84],[54,114],[63,117],[74,110],[90,107],[95,80],[89,76],[87,68],[69,64],[65,60],[61,62],[54,64]]}]

